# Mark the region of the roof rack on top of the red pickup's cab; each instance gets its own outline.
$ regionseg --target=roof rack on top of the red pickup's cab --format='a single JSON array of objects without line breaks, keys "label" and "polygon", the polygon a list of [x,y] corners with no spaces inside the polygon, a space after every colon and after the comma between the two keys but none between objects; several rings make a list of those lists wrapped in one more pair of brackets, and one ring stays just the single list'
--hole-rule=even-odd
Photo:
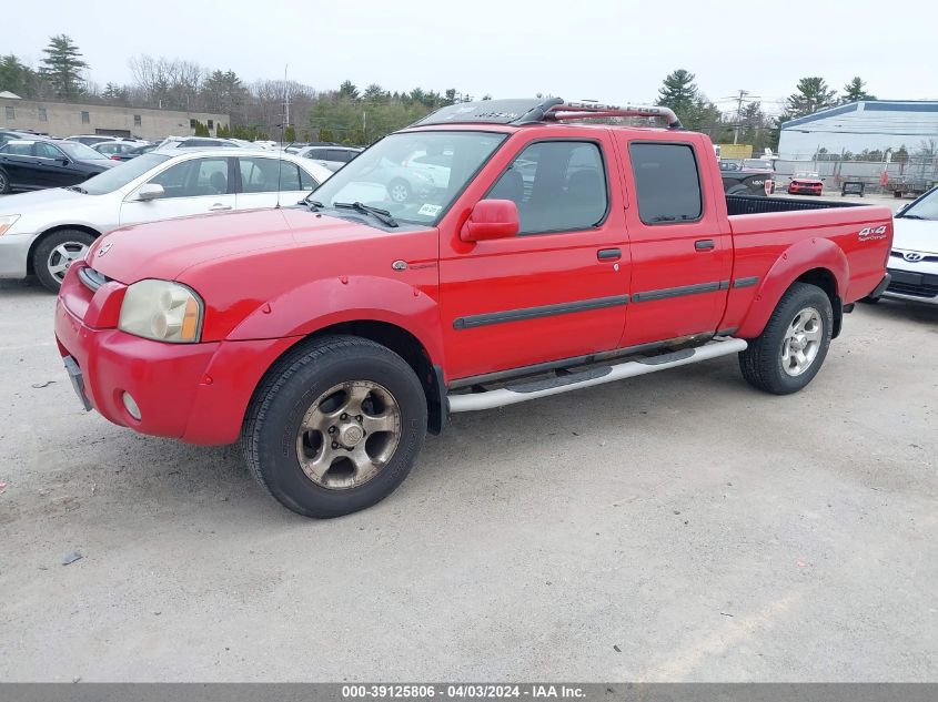
[{"label": "roof rack on top of the red pickup's cab", "polygon": [[662,118],[667,120],[669,129],[680,129],[680,120],[669,108],[564,102],[561,98],[457,102],[431,112],[411,126],[468,123],[522,125],[611,116]]}]

